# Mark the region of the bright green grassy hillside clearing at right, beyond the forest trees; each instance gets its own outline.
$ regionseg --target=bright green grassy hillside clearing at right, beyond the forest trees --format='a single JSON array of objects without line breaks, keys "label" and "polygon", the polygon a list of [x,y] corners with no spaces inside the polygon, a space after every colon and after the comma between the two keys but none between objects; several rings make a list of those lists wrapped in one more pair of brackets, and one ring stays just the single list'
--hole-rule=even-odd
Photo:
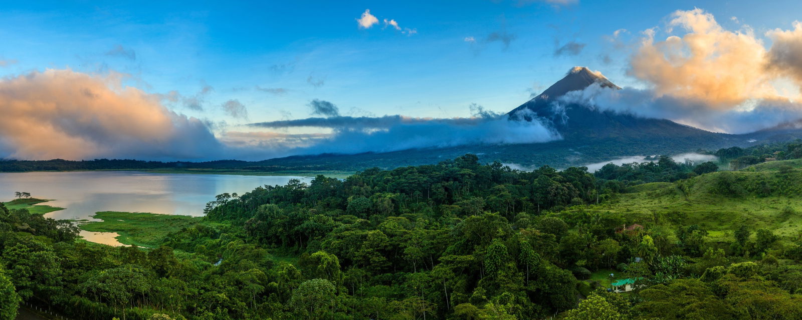
[{"label": "bright green grassy hillside clearing at right, beyond the forest trees", "polygon": [[[802,170],[783,174],[765,169],[633,186],[610,202],[584,210],[622,214],[629,223],[662,226],[672,234],[679,226],[696,224],[708,230],[714,242],[733,241],[733,232],[741,225],[753,231],[768,228],[788,240],[796,238],[802,230]],[[743,189],[733,194],[716,191],[727,178]]]}]

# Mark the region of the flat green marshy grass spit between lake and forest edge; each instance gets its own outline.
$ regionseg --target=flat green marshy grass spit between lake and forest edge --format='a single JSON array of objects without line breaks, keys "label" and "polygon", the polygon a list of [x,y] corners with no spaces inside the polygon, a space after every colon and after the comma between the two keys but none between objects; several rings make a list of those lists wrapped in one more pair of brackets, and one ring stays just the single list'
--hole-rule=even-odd
[{"label": "flat green marshy grass spit between lake and forest edge", "polygon": [[116,232],[119,243],[148,248],[159,246],[169,233],[201,222],[201,217],[144,212],[101,211],[92,217],[103,221],[82,223],[82,230]]}]

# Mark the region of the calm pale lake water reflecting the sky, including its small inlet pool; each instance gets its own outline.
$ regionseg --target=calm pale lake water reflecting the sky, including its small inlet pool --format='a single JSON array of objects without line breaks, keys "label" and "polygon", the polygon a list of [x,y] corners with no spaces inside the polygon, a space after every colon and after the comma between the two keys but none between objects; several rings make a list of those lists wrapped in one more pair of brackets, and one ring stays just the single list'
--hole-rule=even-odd
[{"label": "calm pale lake water reflecting the sky, including its small inlet pool", "polygon": [[[203,215],[206,202],[217,194],[244,194],[257,186],[284,185],[291,178],[230,174],[152,174],[140,171],[80,171],[0,173],[0,200],[10,201],[15,191],[65,210],[45,214],[55,219],[91,219],[98,211],[151,212]],[[89,241],[117,245],[113,233],[81,235]]]}]

